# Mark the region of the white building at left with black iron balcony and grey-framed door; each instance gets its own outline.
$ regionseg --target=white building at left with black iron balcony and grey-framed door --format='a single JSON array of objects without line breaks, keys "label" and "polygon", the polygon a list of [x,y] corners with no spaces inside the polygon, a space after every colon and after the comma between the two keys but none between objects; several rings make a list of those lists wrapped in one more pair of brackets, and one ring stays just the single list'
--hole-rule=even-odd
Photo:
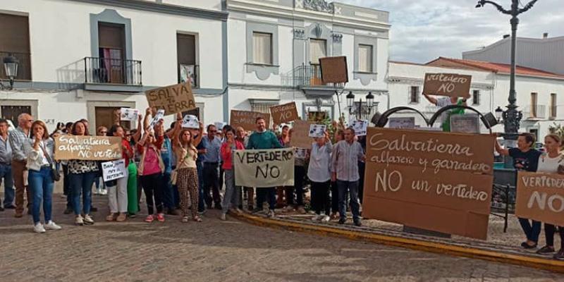
[{"label": "white building at left with black iron balcony and grey-framed door", "polygon": [[94,132],[116,108],[144,111],[146,90],[190,80],[192,113],[224,120],[227,16],[221,0],[1,1],[0,57],[16,57],[18,75],[0,116],[28,112],[50,130],[87,118]]}]

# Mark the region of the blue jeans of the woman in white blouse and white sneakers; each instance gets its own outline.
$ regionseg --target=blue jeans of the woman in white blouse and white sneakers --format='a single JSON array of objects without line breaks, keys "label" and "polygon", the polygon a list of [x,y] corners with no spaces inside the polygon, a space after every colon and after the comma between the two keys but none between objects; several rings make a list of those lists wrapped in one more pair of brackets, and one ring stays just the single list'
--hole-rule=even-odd
[{"label": "blue jeans of the woman in white blouse and white sneakers", "polygon": [[37,224],[39,219],[39,207],[43,202],[43,214],[45,215],[45,223],[51,220],[51,209],[53,207],[53,178],[51,178],[51,168],[41,168],[41,171],[29,170],[27,183],[32,192],[31,214],[33,223]]}]

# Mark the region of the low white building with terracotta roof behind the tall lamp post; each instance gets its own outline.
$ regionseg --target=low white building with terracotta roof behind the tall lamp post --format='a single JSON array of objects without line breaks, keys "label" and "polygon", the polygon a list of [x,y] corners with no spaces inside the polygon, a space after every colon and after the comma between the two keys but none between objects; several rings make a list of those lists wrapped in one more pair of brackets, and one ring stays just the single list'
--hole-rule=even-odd
[{"label": "low white building with terracotta roof behind the tall lamp post", "polygon": [[[425,73],[472,75],[467,105],[482,114],[493,113],[498,107],[505,109],[508,104],[510,65],[439,57],[425,64],[390,62],[387,78],[390,107],[407,105],[430,118],[438,108],[422,95]],[[520,132],[544,137],[554,123],[564,121],[564,75],[517,66],[515,88],[518,110],[523,114]],[[422,118],[416,124],[424,126]],[[496,125],[494,130],[503,132],[503,125]]]}]

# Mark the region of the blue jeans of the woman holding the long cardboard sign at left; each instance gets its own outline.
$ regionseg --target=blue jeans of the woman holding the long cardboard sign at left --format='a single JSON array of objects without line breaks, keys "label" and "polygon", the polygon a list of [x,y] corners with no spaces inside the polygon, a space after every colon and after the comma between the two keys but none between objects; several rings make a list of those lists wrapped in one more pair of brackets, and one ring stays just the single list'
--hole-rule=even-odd
[{"label": "blue jeans of the woman holding the long cardboard sign at left", "polygon": [[68,173],[75,215],[80,214],[80,194],[82,194],[82,211],[84,214],[90,214],[94,178],[96,178],[96,173],[94,172]]}]

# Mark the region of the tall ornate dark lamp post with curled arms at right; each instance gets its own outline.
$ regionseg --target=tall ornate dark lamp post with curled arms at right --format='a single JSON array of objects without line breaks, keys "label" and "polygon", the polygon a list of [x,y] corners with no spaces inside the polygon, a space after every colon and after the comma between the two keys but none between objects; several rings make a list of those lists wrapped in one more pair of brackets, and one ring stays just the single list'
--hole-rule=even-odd
[{"label": "tall ornate dark lamp post with curled arms at right", "polygon": [[[509,104],[506,106],[507,110],[500,111],[496,110],[496,115],[503,116],[503,128],[505,140],[517,140],[517,135],[519,134],[519,124],[522,118],[522,113],[517,111],[517,93],[515,92],[515,45],[517,42],[517,25],[519,24],[519,16],[521,13],[529,11],[538,0],[532,0],[529,4],[519,8],[520,0],[511,0],[511,9],[505,10],[501,5],[494,1],[489,0],[479,0],[476,8],[482,8],[486,4],[491,4],[496,6],[498,11],[506,15],[511,15],[511,73],[510,73],[510,86],[509,86]],[[499,108],[498,108],[499,109]],[[501,110],[501,109],[500,109]]]}]

